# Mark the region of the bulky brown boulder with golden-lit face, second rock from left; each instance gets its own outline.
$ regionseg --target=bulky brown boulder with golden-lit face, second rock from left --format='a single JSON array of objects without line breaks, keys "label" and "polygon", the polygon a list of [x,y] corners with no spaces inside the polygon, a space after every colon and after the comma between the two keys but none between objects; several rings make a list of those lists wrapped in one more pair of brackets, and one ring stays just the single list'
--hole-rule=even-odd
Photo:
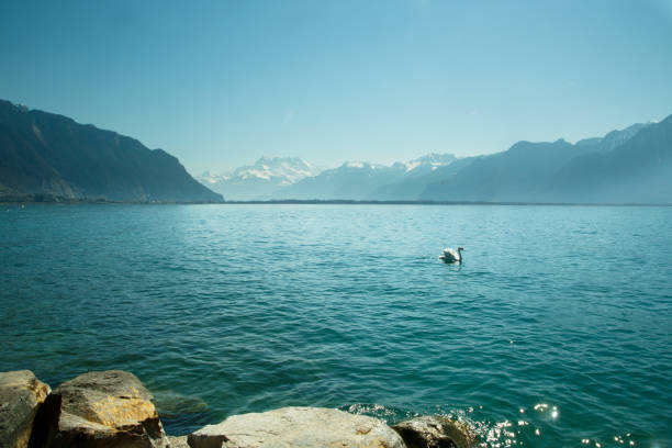
[{"label": "bulky brown boulder with golden-lit face, second rock from left", "polygon": [[44,404],[49,448],[167,448],[152,394],[133,374],[88,372],[60,384]]}]

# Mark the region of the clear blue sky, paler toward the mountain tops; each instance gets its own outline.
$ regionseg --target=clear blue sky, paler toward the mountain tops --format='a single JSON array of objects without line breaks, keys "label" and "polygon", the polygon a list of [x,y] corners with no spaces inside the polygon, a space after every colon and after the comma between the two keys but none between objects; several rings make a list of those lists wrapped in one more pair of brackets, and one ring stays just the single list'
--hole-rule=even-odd
[{"label": "clear blue sky, paler toward the mountain tops", "polygon": [[473,155],[672,114],[672,0],[2,1],[0,98],[176,155]]}]

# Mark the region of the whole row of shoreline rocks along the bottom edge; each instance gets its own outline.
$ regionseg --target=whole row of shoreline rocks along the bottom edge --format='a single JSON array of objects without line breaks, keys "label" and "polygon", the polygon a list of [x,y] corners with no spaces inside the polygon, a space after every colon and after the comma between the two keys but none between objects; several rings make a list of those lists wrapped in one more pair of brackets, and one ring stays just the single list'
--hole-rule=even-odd
[{"label": "whole row of shoreline rocks along the bottom edge", "polygon": [[0,448],[467,448],[469,428],[441,416],[389,426],[323,407],[232,415],[180,437],[167,436],[153,395],[130,372],[80,374],[52,390],[30,370],[0,372]]}]

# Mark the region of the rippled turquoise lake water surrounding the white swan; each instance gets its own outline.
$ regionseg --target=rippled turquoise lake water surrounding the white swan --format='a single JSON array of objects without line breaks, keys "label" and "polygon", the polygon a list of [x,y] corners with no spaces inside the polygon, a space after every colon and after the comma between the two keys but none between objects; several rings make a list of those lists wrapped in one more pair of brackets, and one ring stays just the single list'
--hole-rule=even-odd
[{"label": "rippled turquoise lake water surrounding the white swan", "polygon": [[0,370],[130,370],[169,434],[310,405],[672,446],[672,208],[0,211]]}]

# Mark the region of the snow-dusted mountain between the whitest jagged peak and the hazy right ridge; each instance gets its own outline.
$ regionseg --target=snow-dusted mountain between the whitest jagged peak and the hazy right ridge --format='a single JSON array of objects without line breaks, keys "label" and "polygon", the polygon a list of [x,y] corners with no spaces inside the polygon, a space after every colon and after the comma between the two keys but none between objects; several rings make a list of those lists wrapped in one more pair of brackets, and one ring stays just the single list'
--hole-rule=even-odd
[{"label": "snow-dusted mountain between the whitest jagged peak and the hazy right ridge", "polygon": [[[273,199],[333,200],[380,199],[378,191],[388,186],[411,181],[424,177],[440,167],[452,164],[456,157],[451,154],[428,154],[408,160],[397,161],[392,166],[370,164],[367,161],[346,161],[338,168],[327,169],[315,177],[304,178],[291,186],[280,188],[272,193]],[[415,189],[410,190],[415,192]],[[384,199],[388,199],[383,194]],[[399,198],[394,198],[399,199]],[[402,198],[405,199],[405,198]]]}]

